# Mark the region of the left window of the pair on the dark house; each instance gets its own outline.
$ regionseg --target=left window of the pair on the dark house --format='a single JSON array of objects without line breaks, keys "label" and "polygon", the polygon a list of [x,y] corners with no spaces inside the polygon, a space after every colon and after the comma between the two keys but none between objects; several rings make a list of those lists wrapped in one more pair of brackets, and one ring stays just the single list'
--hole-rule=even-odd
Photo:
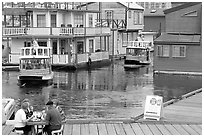
[{"label": "left window of the pair on the dark house", "polygon": [[157,45],[157,56],[169,57],[169,45]]}]

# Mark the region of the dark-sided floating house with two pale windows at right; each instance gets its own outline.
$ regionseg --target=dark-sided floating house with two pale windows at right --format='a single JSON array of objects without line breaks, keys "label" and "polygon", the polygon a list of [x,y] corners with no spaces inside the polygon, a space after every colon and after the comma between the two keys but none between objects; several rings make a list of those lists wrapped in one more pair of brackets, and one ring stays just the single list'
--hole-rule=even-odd
[{"label": "dark-sided floating house with two pale windows at right", "polygon": [[202,74],[202,3],[164,11],[166,31],[154,41],[154,72]]}]

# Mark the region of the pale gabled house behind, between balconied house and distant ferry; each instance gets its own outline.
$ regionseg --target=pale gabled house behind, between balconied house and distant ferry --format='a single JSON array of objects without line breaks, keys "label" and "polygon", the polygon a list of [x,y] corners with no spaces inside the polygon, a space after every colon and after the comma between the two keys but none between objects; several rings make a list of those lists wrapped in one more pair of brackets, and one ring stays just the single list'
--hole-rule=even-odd
[{"label": "pale gabled house behind, between balconied house and distant ferry", "polygon": [[144,29],[144,8],[134,2],[92,2],[88,9],[95,7],[100,8],[97,26],[111,29],[110,57],[123,57],[127,45]]}]

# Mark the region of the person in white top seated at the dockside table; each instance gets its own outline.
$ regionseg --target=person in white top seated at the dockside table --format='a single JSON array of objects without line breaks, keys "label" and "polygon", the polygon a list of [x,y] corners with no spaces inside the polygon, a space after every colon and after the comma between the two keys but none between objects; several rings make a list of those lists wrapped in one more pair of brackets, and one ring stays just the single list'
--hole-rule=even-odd
[{"label": "person in white top seated at the dockside table", "polygon": [[26,110],[28,109],[28,103],[24,102],[21,104],[21,109],[19,109],[14,117],[15,120],[15,130],[23,130],[25,135],[31,135],[32,126],[26,125],[26,122],[28,122],[30,119],[33,118],[31,116],[30,118],[26,118]]}]

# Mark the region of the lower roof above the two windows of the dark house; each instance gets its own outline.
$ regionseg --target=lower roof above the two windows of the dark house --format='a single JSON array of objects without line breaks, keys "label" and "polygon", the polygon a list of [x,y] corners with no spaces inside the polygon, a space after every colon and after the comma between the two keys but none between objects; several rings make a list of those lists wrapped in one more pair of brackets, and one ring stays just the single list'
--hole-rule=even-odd
[{"label": "lower roof above the two windows of the dark house", "polygon": [[195,34],[168,34],[163,33],[159,36],[154,43],[161,44],[161,43],[170,43],[170,44],[200,44],[201,35]]}]

